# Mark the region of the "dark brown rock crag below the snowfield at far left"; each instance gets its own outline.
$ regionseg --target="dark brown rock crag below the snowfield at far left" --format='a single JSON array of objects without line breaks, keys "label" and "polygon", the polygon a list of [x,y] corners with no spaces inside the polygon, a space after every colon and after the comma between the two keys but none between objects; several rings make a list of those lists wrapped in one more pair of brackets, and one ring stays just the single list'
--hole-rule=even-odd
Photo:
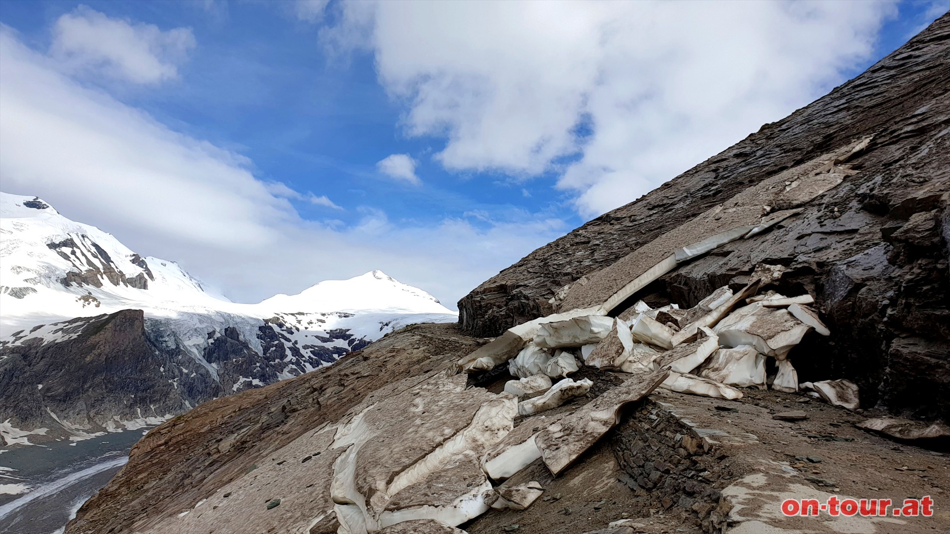
[{"label": "dark brown rock crag below the snowfield at far left", "polygon": [[0,349],[0,405],[15,428],[83,437],[121,429],[122,422],[154,422],[222,394],[193,358],[161,351],[149,340],[141,310],[73,319],[59,328],[58,342]]}]

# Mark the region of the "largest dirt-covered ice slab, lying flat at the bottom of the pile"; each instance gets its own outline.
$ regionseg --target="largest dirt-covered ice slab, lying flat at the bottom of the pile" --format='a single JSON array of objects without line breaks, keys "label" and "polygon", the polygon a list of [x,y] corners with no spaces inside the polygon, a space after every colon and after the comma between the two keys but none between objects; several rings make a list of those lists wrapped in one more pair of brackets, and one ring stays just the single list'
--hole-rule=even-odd
[{"label": "largest dirt-covered ice slab, lying flat at the bottom of the pile", "polygon": [[[333,448],[346,451],[333,465],[330,494],[341,532],[374,532],[410,519],[461,524],[487,509],[481,493],[472,492],[491,487],[479,478],[478,458],[512,429],[517,398],[466,389],[462,374],[405,382],[412,385],[348,411],[336,430]],[[470,455],[465,462],[474,467],[463,465]]]}]

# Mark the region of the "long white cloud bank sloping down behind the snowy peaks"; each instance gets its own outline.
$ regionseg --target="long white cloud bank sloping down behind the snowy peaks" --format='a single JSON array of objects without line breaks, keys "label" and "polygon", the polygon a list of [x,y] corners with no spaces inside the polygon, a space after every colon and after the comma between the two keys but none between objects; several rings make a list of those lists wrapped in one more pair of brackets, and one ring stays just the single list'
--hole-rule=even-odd
[{"label": "long white cloud bank sloping down behind the snowy peaks", "polygon": [[4,191],[40,196],[143,256],[177,260],[237,301],[382,269],[452,307],[566,230],[559,219],[523,212],[477,226],[393,222],[373,209],[352,226],[300,219],[288,199],[335,204],[257,180],[246,158],[81,86],[4,27],[0,79]]}]

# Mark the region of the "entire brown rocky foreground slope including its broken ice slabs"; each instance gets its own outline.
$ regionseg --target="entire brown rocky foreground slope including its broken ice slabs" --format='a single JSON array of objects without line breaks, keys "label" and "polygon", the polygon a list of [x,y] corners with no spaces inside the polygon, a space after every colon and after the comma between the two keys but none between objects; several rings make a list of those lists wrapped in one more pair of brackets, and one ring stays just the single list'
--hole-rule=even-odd
[{"label": "entire brown rocky foreground slope including its broken ice slabs", "polygon": [[[486,281],[459,325],[150,430],[66,532],[950,528],[947,57],[950,15]],[[933,517],[779,507],[924,496]]]}]

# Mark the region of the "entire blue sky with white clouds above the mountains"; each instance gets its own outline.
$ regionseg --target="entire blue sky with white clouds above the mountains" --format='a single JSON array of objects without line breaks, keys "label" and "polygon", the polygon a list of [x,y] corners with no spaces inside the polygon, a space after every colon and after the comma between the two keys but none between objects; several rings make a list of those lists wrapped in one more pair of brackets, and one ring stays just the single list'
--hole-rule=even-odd
[{"label": "entire blue sky with white clouds above the mountains", "polygon": [[947,8],[7,0],[0,180],[236,300],[453,306]]}]

